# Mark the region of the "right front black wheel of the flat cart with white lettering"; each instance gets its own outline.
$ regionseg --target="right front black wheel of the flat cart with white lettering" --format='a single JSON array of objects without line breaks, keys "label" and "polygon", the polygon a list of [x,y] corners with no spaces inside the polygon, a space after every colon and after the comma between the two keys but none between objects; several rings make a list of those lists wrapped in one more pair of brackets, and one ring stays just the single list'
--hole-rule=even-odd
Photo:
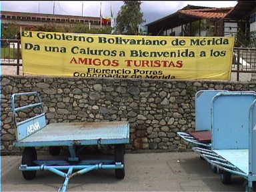
[{"label": "right front black wheel of the flat cart with white lettering", "polygon": [[[125,165],[124,153],[125,153],[125,145],[123,144],[115,145],[115,162],[121,162],[123,165]],[[115,177],[117,177],[117,179],[125,178],[125,167],[123,167],[123,169],[115,169]]]}]

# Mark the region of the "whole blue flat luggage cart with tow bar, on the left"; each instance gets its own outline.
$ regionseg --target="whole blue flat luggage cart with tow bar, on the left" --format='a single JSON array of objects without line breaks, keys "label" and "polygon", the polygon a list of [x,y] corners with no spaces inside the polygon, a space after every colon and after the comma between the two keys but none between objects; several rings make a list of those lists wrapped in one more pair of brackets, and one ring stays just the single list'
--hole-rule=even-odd
[{"label": "whole blue flat luggage cart with tow bar, on the left", "polygon": [[[15,107],[17,97],[27,96],[35,99],[32,104]],[[37,109],[36,109],[37,108]],[[94,169],[115,169],[115,177],[125,177],[125,143],[129,143],[129,123],[127,121],[112,121],[101,123],[50,123],[47,125],[43,112],[43,103],[37,92],[15,93],[11,96],[13,124],[16,127],[17,147],[23,150],[19,169],[27,180],[35,178],[36,171],[51,171],[64,177],[64,183],[59,191],[67,191],[69,179],[82,175]],[[32,109],[37,112],[34,117],[21,119],[17,122],[17,113]],[[77,156],[77,147],[85,145],[114,145],[115,155],[107,160],[83,160]],[[49,147],[52,155],[59,155],[60,147],[69,149],[69,158],[65,160],[38,160],[35,147]],[[67,171],[65,173],[64,171]]]}]

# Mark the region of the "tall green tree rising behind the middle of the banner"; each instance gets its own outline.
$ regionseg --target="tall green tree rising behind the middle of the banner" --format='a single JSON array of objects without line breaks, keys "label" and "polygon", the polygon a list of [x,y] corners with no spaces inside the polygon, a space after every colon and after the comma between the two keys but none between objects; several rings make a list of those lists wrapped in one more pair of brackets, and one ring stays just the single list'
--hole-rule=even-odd
[{"label": "tall green tree rising behind the middle of the banner", "polygon": [[123,1],[117,14],[115,33],[139,35],[139,25],[145,22],[141,12],[141,1]]}]

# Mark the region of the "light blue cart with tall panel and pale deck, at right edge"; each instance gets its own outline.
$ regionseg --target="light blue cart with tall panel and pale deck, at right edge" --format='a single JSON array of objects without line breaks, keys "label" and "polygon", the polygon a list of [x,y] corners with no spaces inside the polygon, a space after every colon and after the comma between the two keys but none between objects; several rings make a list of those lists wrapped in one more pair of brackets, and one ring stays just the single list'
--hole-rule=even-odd
[{"label": "light blue cart with tall panel and pale deck, at right edge", "polygon": [[256,181],[256,94],[218,93],[212,103],[211,149],[193,147],[217,167],[224,184],[231,174],[247,179],[245,191],[253,191]]}]

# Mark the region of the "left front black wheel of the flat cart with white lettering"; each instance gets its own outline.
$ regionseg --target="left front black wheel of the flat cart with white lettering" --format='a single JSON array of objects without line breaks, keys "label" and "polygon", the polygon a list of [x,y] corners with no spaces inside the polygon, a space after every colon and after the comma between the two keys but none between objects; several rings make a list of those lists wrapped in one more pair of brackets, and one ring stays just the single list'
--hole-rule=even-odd
[{"label": "left front black wheel of the flat cart with white lettering", "polygon": [[[33,161],[37,160],[37,151],[35,147],[25,147],[22,153],[21,165],[34,166]],[[37,171],[22,171],[24,179],[31,180],[35,178]]]}]

